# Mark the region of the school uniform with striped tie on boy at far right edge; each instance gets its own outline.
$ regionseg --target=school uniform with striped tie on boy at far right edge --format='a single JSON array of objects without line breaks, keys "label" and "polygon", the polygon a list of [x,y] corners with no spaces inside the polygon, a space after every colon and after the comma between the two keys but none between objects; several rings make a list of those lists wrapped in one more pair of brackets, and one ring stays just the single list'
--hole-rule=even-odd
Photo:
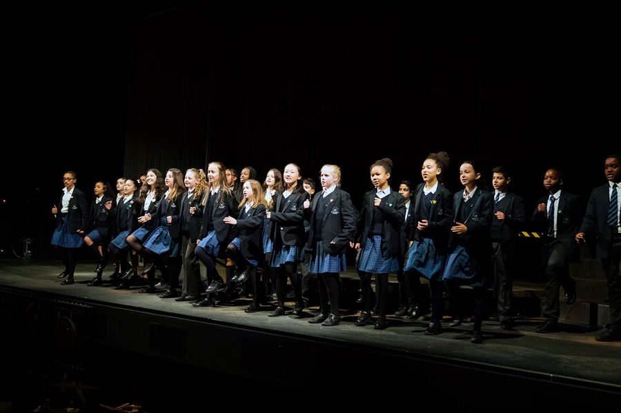
[{"label": "school uniform with striped tie on boy at far right edge", "polygon": [[[616,205],[615,205],[616,198]],[[609,181],[595,188],[589,197],[578,232],[595,236],[595,255],[602,261],[608,282],[611,328],[621,329],[621,188]],[[616,215],[616,216],[615,216]],[[615,336],[619,336],[618,330]],[[599,338],[598,338],[599,339]],[[608,341],[608,340],[602,340]]]}]

